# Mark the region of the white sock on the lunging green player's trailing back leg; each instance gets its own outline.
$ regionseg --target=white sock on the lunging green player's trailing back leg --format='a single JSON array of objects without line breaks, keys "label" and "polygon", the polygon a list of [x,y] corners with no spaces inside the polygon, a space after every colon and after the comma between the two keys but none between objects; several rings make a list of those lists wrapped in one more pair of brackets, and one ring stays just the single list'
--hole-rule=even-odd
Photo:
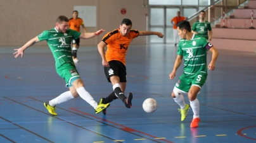
[{"label": "white sock on the lunging green player's trailing back leg", "polygon": [[74,96],[71,94],[70,91],[66,91],[65,93],[60,94],[58,97],[54,98],[53,100],[49,101],[50,106],[55,106],[65,101],[73,99]]}]

